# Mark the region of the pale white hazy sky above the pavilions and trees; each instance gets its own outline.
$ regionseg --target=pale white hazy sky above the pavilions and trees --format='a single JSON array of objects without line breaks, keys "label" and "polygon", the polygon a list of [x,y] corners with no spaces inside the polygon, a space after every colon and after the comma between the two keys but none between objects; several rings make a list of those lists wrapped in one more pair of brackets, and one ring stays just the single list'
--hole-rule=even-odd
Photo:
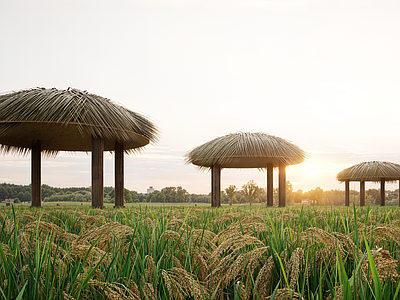
[{"label": "pale white hazy sky above the pavilions and trees", "polygon": [[[307,152],[294,190],[344,189],[344,168],[400,163],[399,32],[398,0],[0,0],[0,94],[74,87],[145,115],[160,140],[125,158],[130,190],[209,193],[184,154],[239,131]],[[90,186],[90,164],[43,159],[42,183]],[[113,186],[109,153],[104,173]],[[222,188],[265,178],[224,169]],[[0,154],[0,182],[29,184],[30,156]]]}]

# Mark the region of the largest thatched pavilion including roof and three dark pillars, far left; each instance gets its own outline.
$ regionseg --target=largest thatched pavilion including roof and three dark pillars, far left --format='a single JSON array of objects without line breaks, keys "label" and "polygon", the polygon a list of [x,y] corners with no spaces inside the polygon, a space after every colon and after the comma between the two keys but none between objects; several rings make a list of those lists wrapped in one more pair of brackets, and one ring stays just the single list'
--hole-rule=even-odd
[{"label": "largest thatched pavilion including roof and three dark pillars, far left", "polygon": [[92,152],[92,205],[103,206],[103,151],[115,152],[115,205],[123,206],[123,153],[157,140],[144,116],[86,91],[35,88],[0,95],[0,153],[32,152],[32,206],[41,205],[41,154]]}]

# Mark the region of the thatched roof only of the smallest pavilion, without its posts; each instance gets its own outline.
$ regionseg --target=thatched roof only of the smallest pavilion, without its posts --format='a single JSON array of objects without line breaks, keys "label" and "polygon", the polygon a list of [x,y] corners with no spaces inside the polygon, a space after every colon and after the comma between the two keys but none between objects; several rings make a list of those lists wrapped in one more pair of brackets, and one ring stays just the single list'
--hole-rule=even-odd
[{"label": "thatched roof only of the smallest pavilion, without its posts", "polygon": [[339,181],[396,181],[400,179],[400,165],[385,161],[367,161],[339,172]]}]

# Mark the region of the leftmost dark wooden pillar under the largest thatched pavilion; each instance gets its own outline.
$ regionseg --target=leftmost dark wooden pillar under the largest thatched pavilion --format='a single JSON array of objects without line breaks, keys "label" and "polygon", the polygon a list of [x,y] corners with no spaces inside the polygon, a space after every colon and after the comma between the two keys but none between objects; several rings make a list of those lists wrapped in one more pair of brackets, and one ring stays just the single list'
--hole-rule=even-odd
[{"label": "leftmost dark wooden pillar under the largest thatched pavilion", "polygon": [[33,207],[42,205],[41,151],[41,143],[36,141],[31,152],[31,206]]}]

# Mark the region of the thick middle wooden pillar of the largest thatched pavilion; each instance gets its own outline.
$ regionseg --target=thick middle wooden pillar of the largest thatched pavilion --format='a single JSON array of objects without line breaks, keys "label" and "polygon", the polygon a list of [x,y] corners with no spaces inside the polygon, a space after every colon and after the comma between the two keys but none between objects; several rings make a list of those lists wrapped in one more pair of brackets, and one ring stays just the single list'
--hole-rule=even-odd
[{"label": "thick middle wooden pillar of the largest thatched pavilion", "polygon": [[104,179],[103,179],[104,139],[92,136],[92,206],[103,208]]}]

